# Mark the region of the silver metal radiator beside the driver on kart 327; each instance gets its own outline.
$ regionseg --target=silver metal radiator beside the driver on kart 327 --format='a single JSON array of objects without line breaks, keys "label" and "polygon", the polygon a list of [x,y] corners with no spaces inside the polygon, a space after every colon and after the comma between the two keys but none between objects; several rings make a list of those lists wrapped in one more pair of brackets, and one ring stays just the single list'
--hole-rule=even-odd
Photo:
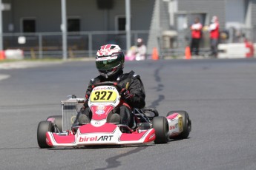
[{"label": "silver metal radiator beside the driver on kart 327", "polygon": [[63,132],[66,130],[71,130],[71,126],[73,125],[74,120],[76,120],[76,107],[78,101],[69,100],[62,101],[62,129]]}]

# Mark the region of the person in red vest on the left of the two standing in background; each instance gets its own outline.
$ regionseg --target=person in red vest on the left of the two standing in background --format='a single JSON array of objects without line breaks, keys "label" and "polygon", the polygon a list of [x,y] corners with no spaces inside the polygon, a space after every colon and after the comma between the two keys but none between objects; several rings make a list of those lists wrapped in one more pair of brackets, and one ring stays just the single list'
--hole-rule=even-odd
[{"label": "person in red vest on the left of the two standing in background", "polygon": [[199,55],[199,44],[202,36],[202,24],[200,23],[200,19],[197,17],[194,19],[194,24],[191,25],[191,54]]}]

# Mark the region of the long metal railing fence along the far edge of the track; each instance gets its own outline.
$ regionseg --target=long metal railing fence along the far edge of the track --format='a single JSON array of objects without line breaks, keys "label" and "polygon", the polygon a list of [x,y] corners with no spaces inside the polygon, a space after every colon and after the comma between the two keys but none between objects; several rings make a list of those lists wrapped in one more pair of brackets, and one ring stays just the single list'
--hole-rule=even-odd
[{"label": "long metal railing fence along the far edge of the track", "polygon": [[[143,38],[147,45],[149,30],[131,31],[131,45],[135,45],[137,38]],[[226,31],[227,37],[220,36],[220,43],[241,42],[244,38],[256,42],[256,27],[254,29]],[[24,44],[19,44],[19,37],[26,39]],[[190,44],[190,30],[177,32],[177,36],[169,39],[170,43],[166,47],[163,43],[163,37],[156,38],[160,44],[160,55],[175,56],[184,55],[185,47]],[[4,50],[20,49],[24,51],[25,58],[62,58],[62,33],[4,33]],[[96,50],[102,44],[119,44],[126,52],[126,33],[125,31],[88,31],[78,33],[68,33],[68,58],[93,57]],[[209,32],[203,32],[203,38],[200,42],[202,55],[209,51]],[[151,50],[148,49],[148,55]]]}]

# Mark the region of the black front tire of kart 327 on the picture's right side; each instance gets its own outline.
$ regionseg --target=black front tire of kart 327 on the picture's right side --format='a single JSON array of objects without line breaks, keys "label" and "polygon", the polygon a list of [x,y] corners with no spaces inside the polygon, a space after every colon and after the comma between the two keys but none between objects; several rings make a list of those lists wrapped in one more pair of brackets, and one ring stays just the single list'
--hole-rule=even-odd
[{"label": "black front tire of kart 327 on the picture's right side", "polygon": [[158,116],[153,119],[153,128],[156,139],[154,143],[167,143],[169,139],[168,121],[163,116]]}]

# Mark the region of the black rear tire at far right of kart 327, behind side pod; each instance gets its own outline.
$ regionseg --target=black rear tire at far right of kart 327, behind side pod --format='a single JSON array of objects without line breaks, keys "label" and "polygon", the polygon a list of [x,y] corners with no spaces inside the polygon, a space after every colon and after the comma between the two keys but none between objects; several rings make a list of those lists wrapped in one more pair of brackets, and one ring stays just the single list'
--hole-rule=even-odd
[{"label": "black rear tire at far right of kart 327, behind side pod", "polygon": [[171,111],[168,112],[168,115],[171,115],[173,113],[179,113],[183,116],[183,132],[180,133],[180,135],[171,137],[172,139],[184,139],[187,138],[189,133],[191,132],[191,120],[189,119],[188,113],[186,111]]}]

